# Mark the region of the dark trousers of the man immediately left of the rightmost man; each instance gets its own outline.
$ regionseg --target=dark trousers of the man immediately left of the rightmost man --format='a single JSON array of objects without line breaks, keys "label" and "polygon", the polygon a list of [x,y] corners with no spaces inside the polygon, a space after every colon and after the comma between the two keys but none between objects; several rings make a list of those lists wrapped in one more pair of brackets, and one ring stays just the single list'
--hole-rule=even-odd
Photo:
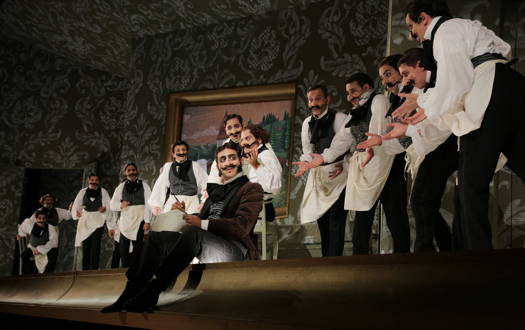
[{"label": "dark trousers of the man immediately left of the rightmost man", "polygon": [[425,157],[417,172],[410,196],[416,221],[416,252],[435,251],[434,238],[440,251],[451,250],[450,228],[439,209],[447,180],[458,169],[457,149],[457,137],[451,135]]}]

